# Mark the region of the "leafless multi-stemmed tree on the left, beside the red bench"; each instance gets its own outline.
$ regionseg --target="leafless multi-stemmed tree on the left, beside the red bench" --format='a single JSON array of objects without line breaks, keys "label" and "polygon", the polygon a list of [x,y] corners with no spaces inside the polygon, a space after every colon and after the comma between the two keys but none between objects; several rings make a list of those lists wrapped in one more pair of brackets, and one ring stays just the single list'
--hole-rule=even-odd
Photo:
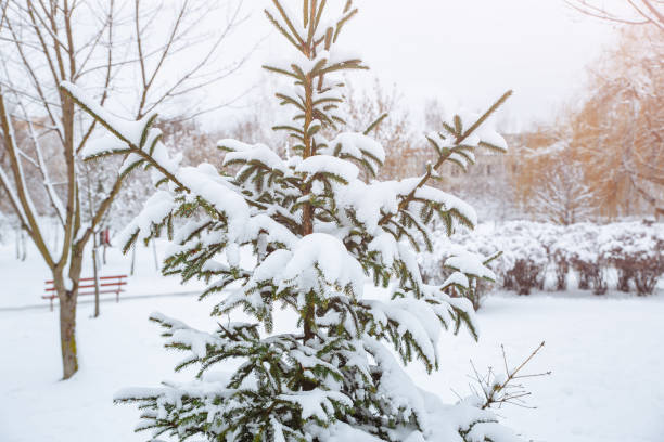
[{"label": "leafless multi-stemmed tree on the left, beside the red bench", "polygon": [[[226,23],[205,26],[221,5]],[[176,100],[181,107],[183,95],[242,64],[213,63],[242,22],[241,11],[241,3],[231,0],[0,0],[0,146],[5,155],[0,188],[51,271],[60,300],[64,379],[78,369],[76,301],[84,249],[126,174],[111,176],[97,200],[86,197],[94,184],[86,182],[79,154],[98,142],[97,121],[76,110],[59,87],[63,81],[102,84],[89,90],[98,102],[136,118],[151,118],[155,107]],[[111,103],[110,91],[122,100]],[[21,143],[22,136],[29,142]],[[54,146],[49,157],[47,144]],[[39,173],[38,187],[28,185],[28,170]],[[58,248],[47,244],[41,218],[49,213],[37,209],[41,199],[59,220],[63,240]]]}]

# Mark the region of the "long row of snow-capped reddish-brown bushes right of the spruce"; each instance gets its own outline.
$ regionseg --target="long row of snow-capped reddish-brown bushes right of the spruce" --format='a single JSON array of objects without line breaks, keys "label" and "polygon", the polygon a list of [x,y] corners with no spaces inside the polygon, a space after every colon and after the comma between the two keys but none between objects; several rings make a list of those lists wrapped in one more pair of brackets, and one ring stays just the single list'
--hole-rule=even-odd
[{"label": "long row of snow-capped reddish-brown bushes right of the spruce", "polygon": [[[547,275],[551,288],[565,290],[573,272],[579,289],[603,295],[609,288],[608,274],[615,273],[615,286],[622,291],[649,295],[664,275],[664,224],[615,222],[598,225],[579,223],[559,226],[547,223],[513,221],[480,225],[472,234],[460,231],[452,237],[435,237],[434,252],[423,253],[420,265],[431,281],[444,281],[449,250],[462,247],[485,257],[502,252],[487,265],[507,290],[528,295],[544,288]],[[489,287],[476,294],[480,298]],[[478,306],[480,299],[471,299]]]}]

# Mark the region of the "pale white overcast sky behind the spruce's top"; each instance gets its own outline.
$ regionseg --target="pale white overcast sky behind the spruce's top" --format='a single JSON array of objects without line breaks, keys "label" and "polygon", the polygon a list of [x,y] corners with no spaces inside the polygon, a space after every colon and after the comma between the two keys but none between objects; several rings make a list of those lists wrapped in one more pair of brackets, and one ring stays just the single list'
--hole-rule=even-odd
[{"label": "pale white overcast sky behind the spruce's top", "polygon": [[[243,74],[221,90],[260,82],[260,62],[284,48],[261,13],[267,3],[245,0],[253,15],[240,32],[251,36],[246,41],[267,38]],[[340,42],[371,67],[356,77],[396,84],[413,110],[431,98],[480,109],[513,89],[503,115],[516,127],[550,120],[573,100],[585,66],[617,34],[563,0],[356,0],[356,5],[359,14]]]}]

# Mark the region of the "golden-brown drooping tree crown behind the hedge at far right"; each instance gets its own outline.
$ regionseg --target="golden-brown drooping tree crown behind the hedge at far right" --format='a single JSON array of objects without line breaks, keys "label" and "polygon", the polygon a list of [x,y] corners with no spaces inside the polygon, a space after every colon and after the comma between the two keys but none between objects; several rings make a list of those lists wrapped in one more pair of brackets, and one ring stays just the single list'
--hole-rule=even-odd
[{"label": "golden-brown drooping tree crown behind the hedge at far right", "polygon": [[664,32],[625,30],[591,72],[591,93],[575,118],[574,140],[604,200],[624,194],[622,187],[630,191],[625,206],[640,195],[656,216],[664,214],[662,60]]}]

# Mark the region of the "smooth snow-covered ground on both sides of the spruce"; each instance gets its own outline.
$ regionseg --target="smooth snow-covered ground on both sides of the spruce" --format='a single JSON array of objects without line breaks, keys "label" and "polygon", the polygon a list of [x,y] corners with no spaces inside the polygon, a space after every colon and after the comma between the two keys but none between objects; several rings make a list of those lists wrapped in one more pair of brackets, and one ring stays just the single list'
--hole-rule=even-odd
[{"label": "smooth snow-covered ground on both sides of the spruce", "polygon": [[[104,303],[102,316],[79,309],[80,372],[60,381],[56,313],[0,312],[0,441],[143,441],[132,433],[138,412],[112,404],[127,386],[178,379],[179,355],[162,348],[158,327],[148,315],[158,310],[194,326],[212,326],[209,302],[192,297]],[[468,391],[469,360],[478,368],[501,366],[500,343],[512,364],[541,340],[547,344],[529,372],[551,369],[548,378],[526,379],[537,410],[507,408],[507,424],[526,440],[551,442],[661,442],[664,440],[664,297],[603,299],[491,297],[478,314],[482,337],[445,337],[442,368],[418,382],[446,400]]]}]

